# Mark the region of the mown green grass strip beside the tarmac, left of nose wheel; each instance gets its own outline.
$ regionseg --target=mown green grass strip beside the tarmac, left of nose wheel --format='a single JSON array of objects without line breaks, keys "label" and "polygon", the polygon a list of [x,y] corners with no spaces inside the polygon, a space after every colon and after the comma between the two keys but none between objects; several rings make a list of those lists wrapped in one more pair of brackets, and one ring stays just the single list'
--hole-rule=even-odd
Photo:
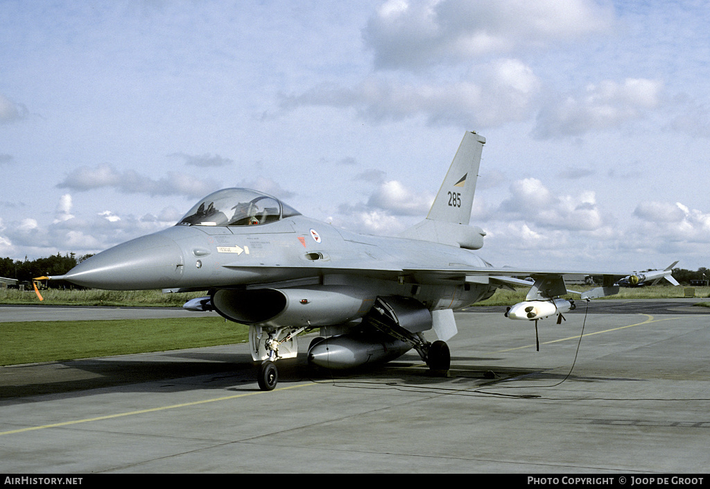
[{"label": "mown green grass strip beside the tarmac, left of nose wheel", "polygon": [[231,345],[248,328],[222,317],[0,323],[0,365]]}]

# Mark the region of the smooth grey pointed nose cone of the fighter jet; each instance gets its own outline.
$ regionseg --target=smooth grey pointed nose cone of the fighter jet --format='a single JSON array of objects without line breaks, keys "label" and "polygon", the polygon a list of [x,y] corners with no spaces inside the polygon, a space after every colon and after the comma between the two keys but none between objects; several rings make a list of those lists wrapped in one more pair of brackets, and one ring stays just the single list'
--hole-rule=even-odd
[{"label": "smooth grey pointed nose cone of the fighter jet", "polygon": [[156,232],[96,254],[62,279],[93,289],[167,289],[177,286],[184,264],[178,244]]}]

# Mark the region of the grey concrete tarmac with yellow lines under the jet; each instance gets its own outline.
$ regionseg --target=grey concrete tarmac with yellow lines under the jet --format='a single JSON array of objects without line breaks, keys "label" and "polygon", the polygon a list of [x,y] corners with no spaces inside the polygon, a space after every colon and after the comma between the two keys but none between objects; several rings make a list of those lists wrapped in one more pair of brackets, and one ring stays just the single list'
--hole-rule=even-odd
[{"label": "grey concrete tarmac with yellow lines under the jet", "polygon": [[[416,353],[316,372],[308,337],[272,392],[246,344],[0,367],[0,473],[704,473],[698,301],[592,301],[540,321],[539,351],[534,323],[470,308],[447,377]],[[0,318],[146,313],[58,309],[0,306]]]}]

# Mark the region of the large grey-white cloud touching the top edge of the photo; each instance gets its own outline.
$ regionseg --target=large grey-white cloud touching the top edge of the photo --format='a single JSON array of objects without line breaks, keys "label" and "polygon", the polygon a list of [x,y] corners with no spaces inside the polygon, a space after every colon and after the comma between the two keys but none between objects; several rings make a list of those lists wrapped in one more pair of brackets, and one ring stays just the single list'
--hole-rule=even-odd
[{"label": "large grey-white cloud touching the top edge of the photo", "polygon": [[420,70],[608,31],[613,11],[588,0],[389,0],[363,31],[377,68]]}]

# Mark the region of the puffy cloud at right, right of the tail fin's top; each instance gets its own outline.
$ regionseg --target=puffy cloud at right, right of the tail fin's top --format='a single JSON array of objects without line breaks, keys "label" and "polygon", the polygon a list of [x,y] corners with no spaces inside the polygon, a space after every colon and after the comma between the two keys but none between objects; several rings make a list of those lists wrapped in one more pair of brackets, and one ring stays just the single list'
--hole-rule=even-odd
[{"label": "puffy cloud at right, right of the tail fin's top", "polygon": [[587,85],[584,94],[545,104],[532,134],[548,139],[618,127],[658,107],[662,90],[662,82],[640,78],[627,78],[622,83],[603,80]]}]

